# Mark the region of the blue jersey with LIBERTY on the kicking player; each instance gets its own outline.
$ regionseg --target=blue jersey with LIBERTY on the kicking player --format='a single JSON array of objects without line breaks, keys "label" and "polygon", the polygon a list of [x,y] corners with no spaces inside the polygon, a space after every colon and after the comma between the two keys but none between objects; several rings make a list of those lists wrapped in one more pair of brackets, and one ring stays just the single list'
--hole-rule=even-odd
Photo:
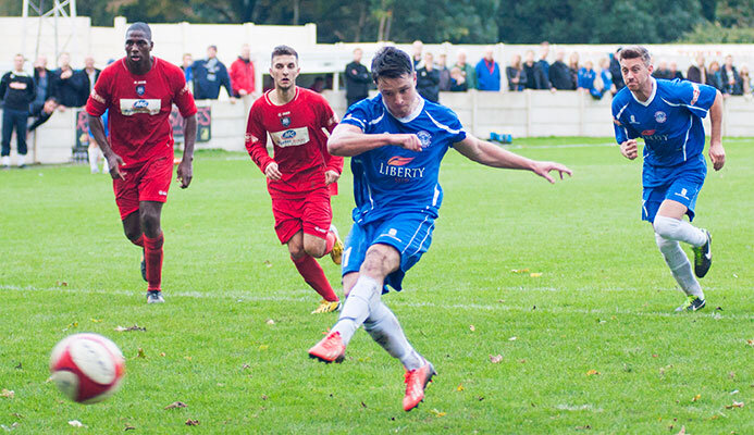
[{"label": "blue jersey with LIBERTY on the kicking player", "polygon": [[450,109],[422,99],[413,113],[396,119],[378,94],[351,105],[341,122],[366,134],[416,134],[422,147],[417,152],[388,145],[351,158],[354,222],[364,224],[403,212],[437,216],[443,201],[440,162],[453,144],[466,138]]}]

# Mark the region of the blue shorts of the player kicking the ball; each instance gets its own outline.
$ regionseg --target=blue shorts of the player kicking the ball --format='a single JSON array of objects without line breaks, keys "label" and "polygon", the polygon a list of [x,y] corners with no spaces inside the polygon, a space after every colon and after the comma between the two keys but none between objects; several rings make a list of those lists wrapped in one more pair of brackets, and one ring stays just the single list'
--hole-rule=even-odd
[{"label": "blue shorts of the player kicking the ball", "polygon": [[433,231],[434,217],[427,213],[401,213],[367,224],[354,223],[343,251],[343,275],[359,271],[370,246],[388,245],[400,252],[400,268],[385,277],[382,291],[387,293],[388,286],[400,291],[406,272],[430,248]]}]

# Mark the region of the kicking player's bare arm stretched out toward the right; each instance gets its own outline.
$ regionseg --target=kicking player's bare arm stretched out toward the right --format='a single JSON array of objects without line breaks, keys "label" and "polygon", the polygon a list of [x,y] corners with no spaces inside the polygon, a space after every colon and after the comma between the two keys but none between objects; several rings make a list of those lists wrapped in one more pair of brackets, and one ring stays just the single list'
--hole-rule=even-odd
[{"label": "kicking player's bare arm stretched out toward the right", "polygon": [[557,171],[560,175],[560,179],[563,179],[563,174],[572,174],[571,170],[560,163],[527,159],[523,156],[505,150],[494,144],[480,140],[472,135],[467,135],[463,140],[454,144],[454,147],[458,152],[474,162],[492,167],[528,170],[545,178],[549,183],[555,183],[555,178],[549,175],[551,171]]}]

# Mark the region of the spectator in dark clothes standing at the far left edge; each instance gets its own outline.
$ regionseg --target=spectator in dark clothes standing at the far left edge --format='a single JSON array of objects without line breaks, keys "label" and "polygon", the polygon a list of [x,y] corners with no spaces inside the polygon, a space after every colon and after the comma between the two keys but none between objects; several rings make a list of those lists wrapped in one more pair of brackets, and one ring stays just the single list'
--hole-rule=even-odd
[{"label": "spectator in dark clothes standing at the far left edge", "polygon": [[24,57],[13,57],[13,71],[0,79],[0,99],[2,109],[2,160],[3,169],[11,167],[11,136],[15,129],[18,167],[26,166],[26,121],[28,109],[36,97],[34,78],[24,71]]}]

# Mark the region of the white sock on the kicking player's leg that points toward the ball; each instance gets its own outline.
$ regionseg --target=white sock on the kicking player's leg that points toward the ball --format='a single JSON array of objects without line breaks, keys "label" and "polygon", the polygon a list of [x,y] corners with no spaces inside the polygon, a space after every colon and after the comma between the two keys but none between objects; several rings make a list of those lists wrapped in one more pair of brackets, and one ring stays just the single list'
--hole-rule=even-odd
[{"label": "white sock on the kicking player's leg that points toward the ball", "polygon": [[356,330],[363,324],[369,316],[372,306],[380,303],[382,296],[382,285],[369,276],[361,275],[351,288],[346,301],[343,303],[341,316],[333,326],[333,332],[339,332],[343,344],[348,346],[348,341],[356,333]]}]

